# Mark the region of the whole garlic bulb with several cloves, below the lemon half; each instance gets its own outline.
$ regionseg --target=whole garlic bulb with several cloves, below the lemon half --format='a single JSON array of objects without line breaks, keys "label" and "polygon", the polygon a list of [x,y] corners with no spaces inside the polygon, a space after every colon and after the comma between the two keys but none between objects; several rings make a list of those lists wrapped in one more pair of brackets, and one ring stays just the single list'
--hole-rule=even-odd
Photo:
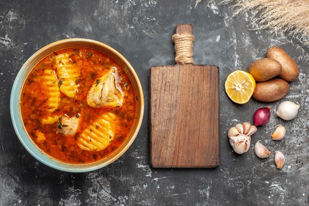
[{"label": "whole garlic bulb with several cloves, below the lemon half", "polygon": [[235,153],[243,154],[249,150],[251,135],[257,130],[257,127],[250,123],[236,124],[229,129],[228,136]]}]

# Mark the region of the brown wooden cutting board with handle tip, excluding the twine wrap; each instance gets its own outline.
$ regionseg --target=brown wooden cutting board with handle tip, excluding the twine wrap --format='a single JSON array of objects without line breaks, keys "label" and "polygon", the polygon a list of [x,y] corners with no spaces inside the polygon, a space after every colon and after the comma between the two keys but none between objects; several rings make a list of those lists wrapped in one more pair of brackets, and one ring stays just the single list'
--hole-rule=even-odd
[{"label": "brown wooden cutting board with handle tip, excluding the twine wrap", "polygon": [[[175,33],[192,34],[192,25],[179,24]],[[219,68],[194,64],[152,67],[150,131],[153,167],[219,165]]]}]

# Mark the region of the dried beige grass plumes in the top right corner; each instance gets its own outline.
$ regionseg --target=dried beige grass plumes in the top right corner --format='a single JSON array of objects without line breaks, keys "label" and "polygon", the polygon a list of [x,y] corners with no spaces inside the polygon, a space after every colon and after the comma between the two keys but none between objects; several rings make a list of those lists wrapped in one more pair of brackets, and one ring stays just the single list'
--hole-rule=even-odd
[{"label": "dried beige grass plumes in the top right corner", "polygon": [[251,11],[257,18],[255,29],[269,29],[274,34],[289,32],[309,46],[309,0],[223,0],[222,3],[233,3],[236,8],[233,16]]}]

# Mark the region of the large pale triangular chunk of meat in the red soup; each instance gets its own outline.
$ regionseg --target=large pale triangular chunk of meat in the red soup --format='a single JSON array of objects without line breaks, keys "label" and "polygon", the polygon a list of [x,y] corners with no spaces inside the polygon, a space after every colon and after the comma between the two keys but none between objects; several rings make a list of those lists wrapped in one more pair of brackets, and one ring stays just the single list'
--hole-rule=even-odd
[{"label": "large pale triangular chunk of meat in the red soup", "polygon": [[116,85],[118,79],[116,68],[107,70],[97,78],[87,94],[87,103],[90,107],[120,107],[123,103],[122,91]]}]

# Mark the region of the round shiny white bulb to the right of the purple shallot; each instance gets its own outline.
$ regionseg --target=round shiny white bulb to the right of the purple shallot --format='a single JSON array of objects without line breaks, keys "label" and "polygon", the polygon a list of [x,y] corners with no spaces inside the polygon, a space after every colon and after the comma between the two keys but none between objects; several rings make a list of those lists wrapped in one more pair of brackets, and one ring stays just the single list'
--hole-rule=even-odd
[{"label": "round shiny white bulb to the right of the purple shallot", "polygon": [[300,104],[295,104],[291,101],[281,102],[278,106],[276,117],[280,117],[283,120],[292,120],[296,117]]}]

